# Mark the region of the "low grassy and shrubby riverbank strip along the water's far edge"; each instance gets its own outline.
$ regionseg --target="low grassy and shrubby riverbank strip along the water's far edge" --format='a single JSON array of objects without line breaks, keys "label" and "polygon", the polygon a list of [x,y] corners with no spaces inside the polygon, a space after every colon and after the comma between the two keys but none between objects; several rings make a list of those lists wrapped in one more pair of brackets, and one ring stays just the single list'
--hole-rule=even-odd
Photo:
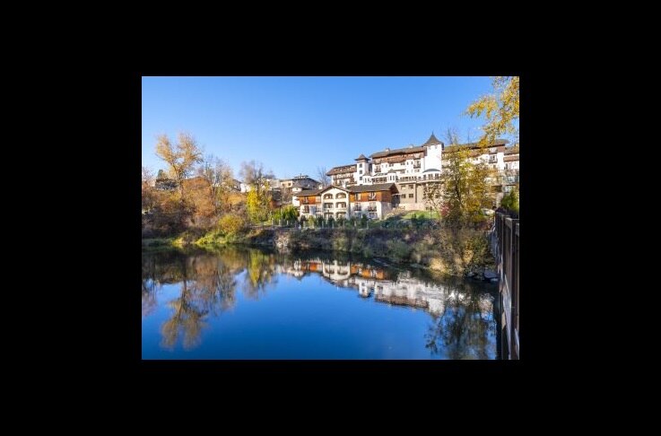
[{"label": "low grassy and shrubby riverbank strip along the water's far edge", "polygon": [[221,249],[230,244],[266,247],[279,252],[318,249],[383,257],[442,275],[463,275],[475,279],[485,279],[485,271],[495,270],[485,232],[471,229],[276,228],[231,234],[210,231],[204,235],[186,231],[177,237],[143,240],[143,249]]}]

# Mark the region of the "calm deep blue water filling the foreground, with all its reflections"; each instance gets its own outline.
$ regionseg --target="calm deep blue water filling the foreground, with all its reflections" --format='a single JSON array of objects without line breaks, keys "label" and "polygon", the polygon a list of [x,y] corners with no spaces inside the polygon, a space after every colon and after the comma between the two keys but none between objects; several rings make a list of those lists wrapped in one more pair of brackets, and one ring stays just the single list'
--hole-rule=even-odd
[{"label": "calm deep blue water filling the foreground, with all its reflections", "polygon": [[143,253],[143,359],[495,359],[496,285],[374,259]]}]

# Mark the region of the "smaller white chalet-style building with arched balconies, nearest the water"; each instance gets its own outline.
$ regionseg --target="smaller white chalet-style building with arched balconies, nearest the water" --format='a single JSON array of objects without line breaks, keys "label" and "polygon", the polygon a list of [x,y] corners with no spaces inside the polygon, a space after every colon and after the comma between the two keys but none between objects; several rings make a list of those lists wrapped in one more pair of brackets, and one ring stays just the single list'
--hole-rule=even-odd
[{"label": "smaller white chalet-style building with arched balconies, nearest the water", "polygon": [[330,186],[294,194],[292,204],[299,207],[300,216],[323,216],[333,219],[367,216],[383,218],[396,205],[395,183],[352,187]]}]

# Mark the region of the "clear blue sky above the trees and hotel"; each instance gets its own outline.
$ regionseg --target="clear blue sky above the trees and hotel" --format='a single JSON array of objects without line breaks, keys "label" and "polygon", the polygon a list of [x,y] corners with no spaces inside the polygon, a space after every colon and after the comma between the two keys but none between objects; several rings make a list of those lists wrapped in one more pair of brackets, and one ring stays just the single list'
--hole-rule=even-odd
[{"label": "clear blue sky above the trees and hotel", "polygon": [[490,93],[489,77],[143,77],[143,165],[158,134],[195,136],[230,163],[255,159],[278,178],[315,177],[386,147],[424,143],[448,126],[475,141],[482,118],[462,112]]}]

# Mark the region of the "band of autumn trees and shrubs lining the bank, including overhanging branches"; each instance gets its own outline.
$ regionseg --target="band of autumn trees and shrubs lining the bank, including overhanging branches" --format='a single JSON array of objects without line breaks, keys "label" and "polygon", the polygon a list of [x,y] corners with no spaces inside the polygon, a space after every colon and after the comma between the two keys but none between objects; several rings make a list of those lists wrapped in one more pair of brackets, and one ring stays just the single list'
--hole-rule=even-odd
[{"label": "band of autumn trees and shrubs lining the bank, including overhanging branches", "polygon": [[[489,147],[500,135],[514,135],[518,151],[518,77],[494,77],[492,86],[494,93],[465,110],[472,118],[485,118],[478,147]],[[143,249],[214,250],[232,244],[280,252],[319,249],[495,280],[487,229],[491,209],[499,204],[503,212],[518,215],[517,179],[511,181],[516,181],[514,188],[502,190],[502,178],[514,169],[499,170],[491,157],[479,158],[484,153],[474,151],[470,138],[460,141],[456,128],[448,126],[446,143],[439,179],[429,179],[422,193],[427,211],[398,210],[373,220],[346,209],[334,219],[300,216],[291,183],[280,186],[262,162],[241,162],[239,181],[226,161],[204,155],[193,135],[158,135],[156,155],[167,170],[154,176],[149,168],[142,169]],[[328,186],[328,171],[317,170],[320,184]]]}]

